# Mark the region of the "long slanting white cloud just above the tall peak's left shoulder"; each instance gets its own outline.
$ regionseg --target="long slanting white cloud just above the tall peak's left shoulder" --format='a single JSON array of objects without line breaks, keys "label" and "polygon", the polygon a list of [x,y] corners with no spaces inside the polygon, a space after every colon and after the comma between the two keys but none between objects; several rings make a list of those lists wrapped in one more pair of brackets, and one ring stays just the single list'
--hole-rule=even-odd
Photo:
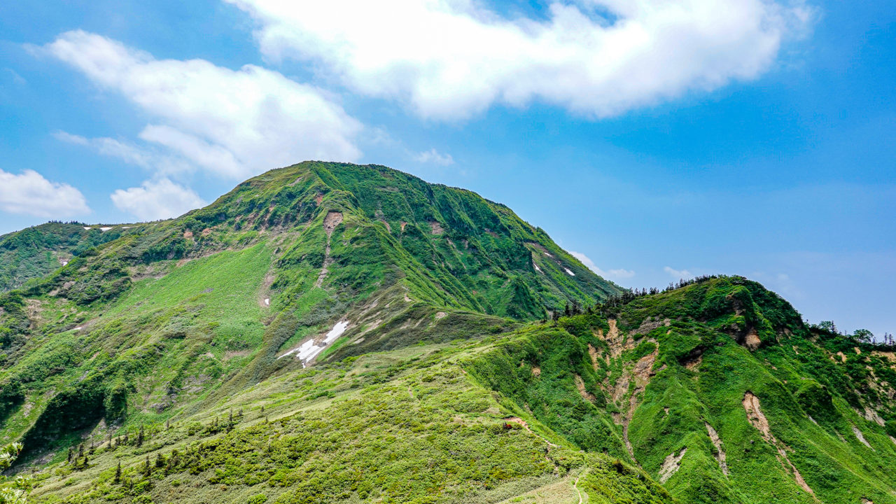
[{"label": "long slanting white cloud just above the tall peak's left shoulder", "polygon": [[[153,117],[142,141],[213,174],[239,179],[297,161],[360,156],[358,120],[324,91],[277,72],[255,65],[234,71],[202,59],[158,60],[81,30],[61,34],[42,50]],[[160,162],[146,149],[113,139],[57,136],[140,166]],[[160,169],[171,166],[176,164]]]}]

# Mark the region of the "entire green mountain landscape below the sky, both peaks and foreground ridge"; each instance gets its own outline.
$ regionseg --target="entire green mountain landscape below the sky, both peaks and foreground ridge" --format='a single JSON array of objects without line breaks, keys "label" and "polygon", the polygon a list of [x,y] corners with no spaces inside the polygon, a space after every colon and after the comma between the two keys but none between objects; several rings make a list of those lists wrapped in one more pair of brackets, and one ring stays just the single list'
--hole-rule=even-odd
[{"label": "entire green mountain landscape below the sky, both peaks and foreground ridge", "polygon": [[31,500],[896,502],[893,349],[745,278],[625,291],[374,165],[87,227],[0,239]]}]

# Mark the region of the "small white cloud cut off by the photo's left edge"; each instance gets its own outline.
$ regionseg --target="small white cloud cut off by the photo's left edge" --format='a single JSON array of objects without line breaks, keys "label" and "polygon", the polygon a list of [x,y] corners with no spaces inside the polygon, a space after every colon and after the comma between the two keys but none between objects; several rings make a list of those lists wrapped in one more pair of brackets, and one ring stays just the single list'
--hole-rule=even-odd
[{"label": "small white cloud cut off by the photo's left edge", "polygon": [[50,182],[33,169],[19,175],[0,169],[0,209],[56,219],[90,213],[81,191]]}]

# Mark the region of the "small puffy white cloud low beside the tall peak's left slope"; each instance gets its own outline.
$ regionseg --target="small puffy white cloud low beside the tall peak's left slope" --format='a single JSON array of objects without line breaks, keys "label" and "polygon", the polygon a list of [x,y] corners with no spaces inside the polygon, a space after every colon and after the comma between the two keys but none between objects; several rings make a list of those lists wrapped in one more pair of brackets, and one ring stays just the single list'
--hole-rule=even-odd
[{"label": "small puffy white cloud low beside the tall peak's left slope", "polygon": [[147,180],[141,187],[118,189],[110,197],[119,210],[132,213],[142,221],[177,217],[205,205],[192,189],[178,186],[168,178]]}]

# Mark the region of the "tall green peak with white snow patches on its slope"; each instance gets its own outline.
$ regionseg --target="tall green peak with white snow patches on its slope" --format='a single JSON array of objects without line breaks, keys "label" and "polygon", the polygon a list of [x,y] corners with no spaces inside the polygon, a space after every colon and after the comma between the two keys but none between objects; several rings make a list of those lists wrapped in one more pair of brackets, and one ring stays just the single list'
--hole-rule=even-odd
[{"label": "tall green peak with white snow patches on its slope", "polygon": [[0,439],[27,459],[97,422],[202,411],[278,371],[500,333],[617,291],[467,191],[384,167],[276,169],[0,298]]}]

